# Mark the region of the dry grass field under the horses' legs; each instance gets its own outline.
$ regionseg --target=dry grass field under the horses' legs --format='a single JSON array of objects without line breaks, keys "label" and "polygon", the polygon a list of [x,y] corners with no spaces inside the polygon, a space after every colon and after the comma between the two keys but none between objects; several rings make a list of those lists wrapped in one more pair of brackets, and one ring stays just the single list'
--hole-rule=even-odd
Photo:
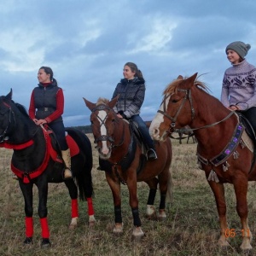
[{"label": "dry grass field under the horses' legs", "polygon": [[[91,142],[93,142],[91,135]],[[236,214],[236,200],[230,184],[226,185],[228,220],[236,236],[230,238],[230,247],[217,246],[219,226],[218,214],[212,191],[204,172],[197,168],[196,144],[191,141],[179,144],[172,140],[173,202],[168,206],[166,221],[158,222],[145,217],[148,198],[146,183],[138,183],[138,198],[143,231],[146,236],[140,242],[131,241],[131,209],[128,191],[122,185],[122,210],[124,234],[113,236],[113,199],[104,172],[97,171],[98,156],[94,149],[93,183],[96,225],[87,225],[87,205],[79,202],[79,226],[68,230],[70,222],[70,199],[64,183],[49,184],[48,218],[52,246],[40,248],[41,230],[37,214],[38,191],[34,188],[34,237],[32,246],[24,246],[25,213],[23,196],[18,182],[12,179],[10,158],[12,151],[0,148],[0,255],[240,255],[241,225]],[[250,183],[247,196],[249,224],[256,255],[256,188]],[[155,206],[159,204],[157,196]],[[244,253],[246,254],[246,253]]]}]

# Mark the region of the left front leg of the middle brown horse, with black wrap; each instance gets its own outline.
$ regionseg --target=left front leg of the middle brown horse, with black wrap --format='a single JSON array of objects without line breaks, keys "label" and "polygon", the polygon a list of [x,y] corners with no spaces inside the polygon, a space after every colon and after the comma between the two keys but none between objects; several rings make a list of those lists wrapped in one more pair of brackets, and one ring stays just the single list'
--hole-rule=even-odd
[{"label": "left front leg of the middle brown horse, with black wrap", "polygon": [[123,220],[121,211],[121,197],[120,197],[120,182],[114,180],[113,175],[110,172],[105,172],[108,185],[113,195],[114,206],[114,227],[113,234],[120,235],[123,233]]}]

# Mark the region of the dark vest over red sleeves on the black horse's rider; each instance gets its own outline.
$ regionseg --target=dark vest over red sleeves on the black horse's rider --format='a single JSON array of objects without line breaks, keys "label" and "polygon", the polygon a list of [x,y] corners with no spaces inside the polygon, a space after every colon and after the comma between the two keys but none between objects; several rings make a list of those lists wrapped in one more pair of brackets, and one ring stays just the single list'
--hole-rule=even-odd
[{"label": "dark vest over red sleeves on the black horse's rider", "polygon": [[[38,84],[38,87],[34,89],[34,103],[37,119],[45,119],[51,113],[56,110],[56,94],[60,88],[56,85],[55,81],[52,84],[43,86]],[[55,120],[55,122],[61,121],[62,117]]]}]

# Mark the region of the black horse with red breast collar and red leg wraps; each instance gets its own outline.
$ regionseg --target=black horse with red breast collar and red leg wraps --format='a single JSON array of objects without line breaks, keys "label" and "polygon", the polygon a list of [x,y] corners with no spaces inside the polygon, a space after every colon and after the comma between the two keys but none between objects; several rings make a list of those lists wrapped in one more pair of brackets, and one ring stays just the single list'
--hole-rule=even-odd
[{"label": "black horse with red breast collar and red leg wraps", "polygon": [[[0,147],[14,150],[11,169],[19,178],[20,189],[24,196],[26,213],[25,244],[32,243],[33,207],[32,187],[38,187],[38,215],[42,229],[43,247],[50,245],[47,222],[48,183],[64,182],[72,199],[72,221],[70,228],[77,225],[79,217],[78,195],[82,201],[87,200],[89,224],[94,224],[94,209],[91,196],[92,187],[92,150],[88,137],[82,131],[68,128],[68,144],[73,144],[72,171],[73,178],[63,180],[64,167],[58,143],[54,134],[43,126],[35,125],[26,109],[12,100],[12,90],[7,96],[0,96]],[[71,148],[72,151],[72,148]],[[75,152],[74,152],[75,151]]]}]

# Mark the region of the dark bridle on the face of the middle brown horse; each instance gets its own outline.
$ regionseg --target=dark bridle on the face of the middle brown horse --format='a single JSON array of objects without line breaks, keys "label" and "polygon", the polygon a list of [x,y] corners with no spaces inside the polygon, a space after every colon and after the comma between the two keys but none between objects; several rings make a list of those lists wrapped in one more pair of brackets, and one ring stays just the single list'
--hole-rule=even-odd
[{"label": "dark bridle on the face of the middle brown horse", "polygon": [[[97,110],[98,110],[98,111],[100,111],[100,110],[105,110],[105,111],[106,111],[107,115],[105,116],[104,119],[101,119],[101,118],[99,117],[99,115],[97,115],[97,114],[95,113]],[[113,143],[114,143],[114,138],[113,138],[112,136],[108,135],[108,128],[107,128],[107,126],[105,125],[105,121],[106,121],[106,119],[108,118],[108,113],[109,113],[109,112],[113,112],[113,113],[114,113],[113,109],[112,109],[112,108],[109,108],[108,106],[106,106],[106,105],[104,105],[104,104],[100,104],[100,105],[96,106],[95,108],[93,108],[93,109],[91,110],[91,112],[94,113],[94,114],[96,114],[97,119],[99,119],[99,120],[101,121],[101,125],[100,125],[99,129],[101,129],[102,125],[104,125],[105,128],[106,128],[106,131],[107,131],[107,135],[102,135],[102,136],[100,136],[100,137],[95,137],[94,143],[97,144],[97,143],[99,143],[99,142],[108,141],[108,142],[110,143],[110,145],[111,145],[111,148],[115,148],[115,147],[121,146],[121,145],[124,143],[124,140],[125,140],[125,125],[123,124],[122,138],[121,138],[120,142],[119,142],[118,144],[116,144],[116,145],[113,144]],[[115,121],[117,121],[117,119],[115,119]],[[99,147],[96,146],[95,148],[99,148]]]}]

